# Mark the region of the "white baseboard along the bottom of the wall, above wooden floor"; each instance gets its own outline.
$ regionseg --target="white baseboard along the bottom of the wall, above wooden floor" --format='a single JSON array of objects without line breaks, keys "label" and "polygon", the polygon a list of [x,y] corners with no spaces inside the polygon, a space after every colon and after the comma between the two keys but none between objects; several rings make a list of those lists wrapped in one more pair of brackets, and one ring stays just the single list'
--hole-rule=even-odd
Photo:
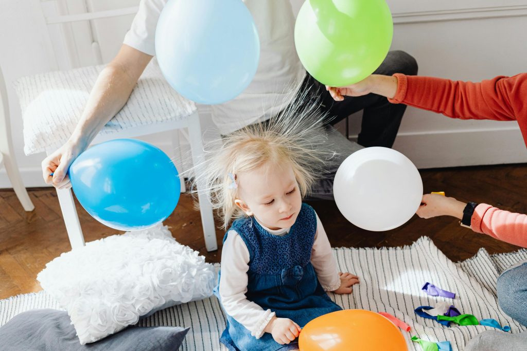
[{"label": "white baseboard along the bottom of the wall, above wooden floor", "polygon": [[[171,148],[169,141],[157,145],[165,152]],[[397,135],[394,148],[420,169],[527,163],[527,150],[517,128],[403,132]],[[47,186],[40,168],[21,168],[20,173],[26,187]],[[0,188],[11,187],[5,169],[0,169]]]}]

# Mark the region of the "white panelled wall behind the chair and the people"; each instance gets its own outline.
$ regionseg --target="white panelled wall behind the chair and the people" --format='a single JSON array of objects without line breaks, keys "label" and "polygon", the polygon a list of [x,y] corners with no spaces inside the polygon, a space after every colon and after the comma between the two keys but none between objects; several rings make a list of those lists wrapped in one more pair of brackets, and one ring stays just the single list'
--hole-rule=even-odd
[{"label": "white panelled wall behind the chair and the people", "polygon": [[[135,6],[139,0],[63,0],[70,13]],[[275,0],[282,1],[282,0]],[[296,11],[302,0],[291,0]],[[525,71],[527,57],[527,0],[388,0],[395,29],[392,49],[417,58],[419,74],[480,81],[496,75]],[[43,154],[23,154],[22,121],[12,82],[17,78],[69,64],[57,44],[60,31],[48,31],[39,0],[0,1],[0,65],[7,81],[11,124],[18,165],[26,186],[44,186],[40,163]],[[44,9],[55,11],[46,1]],[[92,64],[92,43],[107,62],[115,54],[133,16],[99,20],[93,26],[79,23],[71,35],[77,52],[74,65]],[[50,39],[51,32],[51,39]],[[54,43],[54,45],[52,44]],[[60,41],[58,41],[60,43]],[[56,54],[55,54],[56,53]],[[360,116],[350,119],[356,135]],[[165,150],[168,135],[145,138]],[[408,108],[395,148],[420,168],[527,162],[527,153],[515,122],[456,121]],[[0,170],[0,188],[11,187]]]}]

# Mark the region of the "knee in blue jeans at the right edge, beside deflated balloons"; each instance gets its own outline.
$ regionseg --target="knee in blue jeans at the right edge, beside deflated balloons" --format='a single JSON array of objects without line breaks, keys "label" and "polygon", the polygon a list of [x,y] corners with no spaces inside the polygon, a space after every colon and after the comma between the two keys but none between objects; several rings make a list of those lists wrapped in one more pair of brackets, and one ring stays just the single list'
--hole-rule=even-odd
[{"label": "knee in blue jeans at the right edge, beside deflated balloons", "polygon": [[510,317],[527,326],[527,265],[504,272],[497,279],[497,298],[500,308]]}]

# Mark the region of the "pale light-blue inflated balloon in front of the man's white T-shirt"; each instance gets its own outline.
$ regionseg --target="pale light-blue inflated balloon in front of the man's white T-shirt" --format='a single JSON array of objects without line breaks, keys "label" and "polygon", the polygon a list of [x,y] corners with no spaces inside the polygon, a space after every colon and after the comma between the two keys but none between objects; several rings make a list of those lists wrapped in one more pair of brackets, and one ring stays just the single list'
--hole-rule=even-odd
[{"label": "pale light-blue inflated balloon in front of the man's white T-shirt", "polygon": [[241,0],[169,0],[155,29],[155,55],[175,91],[220,104],[252,81],[260,41]]}]

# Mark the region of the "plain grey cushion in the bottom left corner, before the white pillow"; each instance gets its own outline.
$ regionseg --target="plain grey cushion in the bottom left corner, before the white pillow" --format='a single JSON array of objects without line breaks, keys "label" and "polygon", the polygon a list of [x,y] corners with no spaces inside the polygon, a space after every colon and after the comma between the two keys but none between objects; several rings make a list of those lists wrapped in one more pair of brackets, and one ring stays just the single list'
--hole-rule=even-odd
[{"label": "plain grey cushion in the bottom left corner, before the white pillow", "polygon": [[0,348],[20,350],[177,350],[189,328],[129,327],[96,343],[81,345],[65,311],[33,309],[0,328]]}]

